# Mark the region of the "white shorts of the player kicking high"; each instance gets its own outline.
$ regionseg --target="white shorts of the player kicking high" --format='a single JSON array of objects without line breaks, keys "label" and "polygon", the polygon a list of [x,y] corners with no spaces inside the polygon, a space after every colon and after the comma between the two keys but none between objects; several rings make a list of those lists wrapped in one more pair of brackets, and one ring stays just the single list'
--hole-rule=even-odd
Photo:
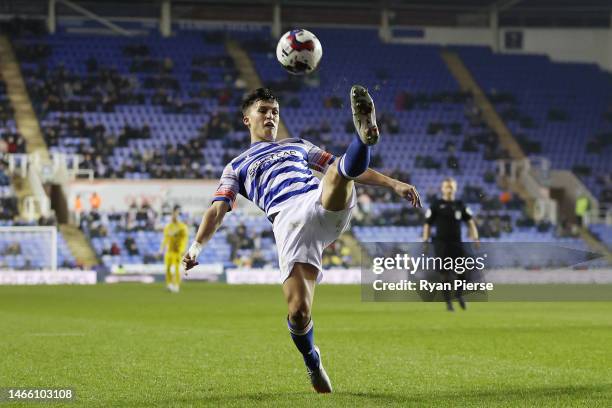
[{"label": "white shorts of the player kicking high", "polygon": [[289,277],[296,262],[313,265],[319,270],[317,282],[323,278],[323,250],[348,229],[356,203],[355,187],[349,207],[329,211],[321,204],[323,183],[291,201],[274,219],[272,230],[278,248],[281,283]]}]

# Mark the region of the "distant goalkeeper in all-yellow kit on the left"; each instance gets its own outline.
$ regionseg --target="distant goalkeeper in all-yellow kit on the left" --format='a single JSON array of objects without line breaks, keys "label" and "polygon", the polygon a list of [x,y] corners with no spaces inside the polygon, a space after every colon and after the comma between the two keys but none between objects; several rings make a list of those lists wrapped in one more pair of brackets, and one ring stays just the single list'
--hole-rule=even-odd
[{"label": "distant goalkeeper in all-yellow kit on the left", "polygon": [[[189,230],[187,225],[179,220],[180,208],[174,207],[172,220],[164,228],[164,239],[159,252],[165,252],[166,287],[170,292],[177,293],[181,284],[181,258],[187,248]],[[174,269],[174,273],[172,270]]]}]

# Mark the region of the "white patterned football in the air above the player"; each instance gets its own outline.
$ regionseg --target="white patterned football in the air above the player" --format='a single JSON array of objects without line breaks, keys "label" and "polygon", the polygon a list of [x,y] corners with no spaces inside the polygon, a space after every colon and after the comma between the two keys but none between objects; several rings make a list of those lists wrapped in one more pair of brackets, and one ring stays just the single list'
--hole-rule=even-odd
[{"label": "white patterned football in the air above the player", "polygon": [[276,58],[287,72],[306,75],[317,69],[323,56],[319,39],[310,31],[287,31],[276,46]]}]

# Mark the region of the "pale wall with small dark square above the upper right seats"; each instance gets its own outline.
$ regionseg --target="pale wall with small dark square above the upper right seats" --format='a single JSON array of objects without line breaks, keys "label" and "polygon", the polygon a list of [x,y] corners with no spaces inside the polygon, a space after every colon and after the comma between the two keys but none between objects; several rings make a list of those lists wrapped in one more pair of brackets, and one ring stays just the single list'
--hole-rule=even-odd
[{"label": "pale wall with small dark square above the upper right seats", "polygon": [[[484,45],[495,48],[490,28],[424,27],[423,38],[394,38],[406,44]],[[506,50],[504,33],[523,32],[523,49]],[[595,63],[612,72],[612,29],[508,28],[499,30],[500,52],[546,54],[554,61]]]}]

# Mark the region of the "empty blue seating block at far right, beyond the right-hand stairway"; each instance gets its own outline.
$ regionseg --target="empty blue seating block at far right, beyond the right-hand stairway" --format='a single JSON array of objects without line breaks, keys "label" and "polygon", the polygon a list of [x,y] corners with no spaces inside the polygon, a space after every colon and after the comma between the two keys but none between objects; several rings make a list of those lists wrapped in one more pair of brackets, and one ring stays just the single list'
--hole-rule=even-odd
[{"label": "empty blue seating block at far right, beyond the right-hand stairway", "polygon": [[612,75],[594,64],[457,47],[508,127],[531,156],[571,169],[612,203]]}]

